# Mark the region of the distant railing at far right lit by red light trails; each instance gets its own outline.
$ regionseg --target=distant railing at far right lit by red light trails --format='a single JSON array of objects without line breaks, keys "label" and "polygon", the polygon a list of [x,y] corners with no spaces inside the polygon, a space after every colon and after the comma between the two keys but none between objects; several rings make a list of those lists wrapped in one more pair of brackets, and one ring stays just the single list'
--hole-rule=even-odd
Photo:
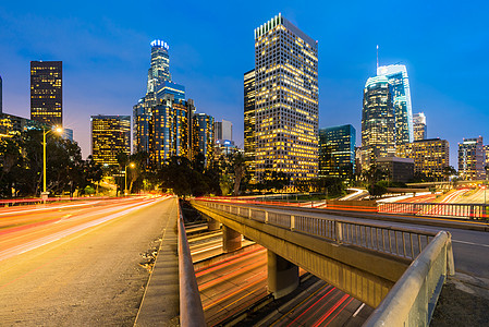
[{"label": "distant railing at far right lit by red light trails", "polygon": [[378,205],[378,211],[382,214],[408,214],[468,219],[489,218],[489,205],[485,204],[383,203]]}]

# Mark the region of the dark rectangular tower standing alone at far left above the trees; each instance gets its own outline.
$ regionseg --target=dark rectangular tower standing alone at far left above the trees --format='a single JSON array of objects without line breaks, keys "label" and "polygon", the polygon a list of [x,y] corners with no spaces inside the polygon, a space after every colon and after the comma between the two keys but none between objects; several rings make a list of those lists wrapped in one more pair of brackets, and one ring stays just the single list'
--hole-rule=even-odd
[{"label": "dark rectangular tower standing alone at far left above the trees", "polygon": [[30,119],[63,125],[62,61],[30,61]]}]

